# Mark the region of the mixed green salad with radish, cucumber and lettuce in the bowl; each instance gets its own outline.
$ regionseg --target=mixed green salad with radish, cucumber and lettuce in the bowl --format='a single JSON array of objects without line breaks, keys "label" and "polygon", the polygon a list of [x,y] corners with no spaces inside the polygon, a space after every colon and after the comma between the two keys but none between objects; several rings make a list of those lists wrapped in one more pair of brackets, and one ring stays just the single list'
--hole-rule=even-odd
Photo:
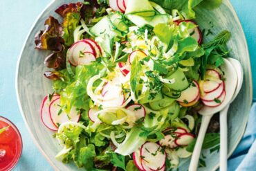
[{"label": "mixed green salad with radish, cucumber and lettuce in the bowl", "polygon": [[[44,75],[53,92],[41,117],[62,147],[56,159],[85,170],[178,168],[192,154],[197,111],[226,96],[219,66],[230,33],[204,42],[215,33],[194,20],[195,10],[219,5],[88,0],[57,8],[35,37],[37,49],[51,51]],[[203,148],[218,150],[217,132],[210,127]]]}]

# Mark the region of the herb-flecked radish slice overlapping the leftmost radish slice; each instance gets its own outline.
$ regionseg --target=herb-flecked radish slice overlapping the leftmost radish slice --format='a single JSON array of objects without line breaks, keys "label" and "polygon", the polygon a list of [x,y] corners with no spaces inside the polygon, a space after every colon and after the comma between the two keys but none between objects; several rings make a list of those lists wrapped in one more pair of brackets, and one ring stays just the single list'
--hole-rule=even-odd
[{"label": "herb-flecked radish slice overlapping the leftmost radish slice", "polygon": [[66,114],[66,112],[61,110],[60,98],[51,102],[51,105],[49,106],[49,113],[51,120],[56,127],[68,121],[78,122],[80,119],[80,114],[78,114],[75,107],[72,107],[69,114]]}]

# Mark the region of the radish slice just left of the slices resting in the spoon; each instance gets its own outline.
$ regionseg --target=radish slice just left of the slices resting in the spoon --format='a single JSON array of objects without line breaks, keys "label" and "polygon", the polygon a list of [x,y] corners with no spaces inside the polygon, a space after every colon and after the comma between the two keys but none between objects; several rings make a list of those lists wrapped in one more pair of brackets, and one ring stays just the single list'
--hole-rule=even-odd
[{"label": "radish slice just left of the slices resting in the spoon", "polygon": [[178,102],[190,103],[196,100],[199,96],[199,84],[193,81],[188,89],[181,92],[181,96],[177,99]]}]

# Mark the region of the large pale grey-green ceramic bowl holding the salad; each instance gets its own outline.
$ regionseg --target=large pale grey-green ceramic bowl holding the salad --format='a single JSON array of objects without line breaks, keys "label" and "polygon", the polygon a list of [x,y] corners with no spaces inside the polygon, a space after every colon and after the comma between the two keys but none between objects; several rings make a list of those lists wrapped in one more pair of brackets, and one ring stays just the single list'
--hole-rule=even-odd
[{"label": "large pale grey-green ceramic bowl holding the salad", "polygon": [[[77,0],[53,1],[39,15],[28,35],[17,64],[16,86],[21,114],[35,144],[55,170],[77,170],[77,168],[73,164],[63,164],[55,159],[55,154],[60,150],[60,147],[55,138],[52,137],[53,132],[48,130],[40,119],[39,111],[42,99],[52,90],[51,81],[43,76],[44,71],[47,70],[44,66],[44,57],[49,52],[35,50],[34,37],[39,30],[44,29],[44,21],[49,15],[60,19],[54,12],[57,7],[63,3],[74,1]],[[228,42],[228,47],[232,48],[231,57],[239,60],[244,67],[244,84],[239,96],[232,103],[228,115],[228,154],[230,155],[244,134],[252,101],[252,79],[246,39],[235,10],[228,0],[223,0],[221,7],[216,10],[198,11],[196,21],[201,28],[206,30],[210,28],[214,35],[224,29],[230,30],[232,38]],[[211,28],[211,25],[213,28]],[[206,39],[210,39],[210,37]],[[204,150],[203,153],[206,156],[207,167],[199,168],[199,170],[216,170],[219,165],[219,154],[217,152],[210,154],[209,150]],[[188,170],[188,164],[189,159],[181,161],[180,170]]]}]

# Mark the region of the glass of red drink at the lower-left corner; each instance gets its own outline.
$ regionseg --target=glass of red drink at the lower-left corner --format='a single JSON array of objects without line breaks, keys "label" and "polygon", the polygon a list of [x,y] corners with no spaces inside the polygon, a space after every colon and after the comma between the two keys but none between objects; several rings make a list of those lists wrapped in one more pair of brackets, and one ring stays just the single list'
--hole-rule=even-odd
[{"label": "glass of red drink at the lower-left corner", "polygon": [[18,163],[21,152],[22,139],[19,130],[10,120],[0,116],[0,171],[12,170]]}]

